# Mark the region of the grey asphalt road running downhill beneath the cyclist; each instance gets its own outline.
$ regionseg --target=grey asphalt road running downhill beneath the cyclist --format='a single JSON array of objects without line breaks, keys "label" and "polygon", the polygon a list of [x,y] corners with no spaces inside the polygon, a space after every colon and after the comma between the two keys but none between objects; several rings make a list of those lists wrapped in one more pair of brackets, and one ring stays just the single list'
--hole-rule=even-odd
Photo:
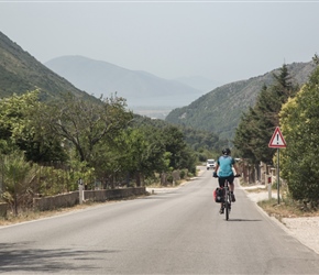
[{"label": "grey asphalt road running downhill beneath the cyclist", "polygon": [[319,256],[204,170],[180,188],[0,228],[1,274],[318,274]]}]

